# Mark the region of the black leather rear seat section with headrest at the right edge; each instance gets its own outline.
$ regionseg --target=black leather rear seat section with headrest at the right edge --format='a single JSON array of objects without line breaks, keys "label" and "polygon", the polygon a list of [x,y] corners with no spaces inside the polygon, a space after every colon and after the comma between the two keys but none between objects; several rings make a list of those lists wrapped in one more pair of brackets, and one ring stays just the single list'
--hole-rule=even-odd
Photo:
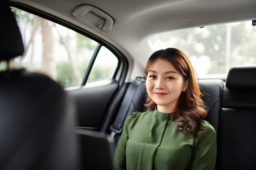
[{"label": "black leather rear seat section with headrest at the right edge", "polygon": [[216,170],[256,170],[256,65],[234,66],[222,92]]}]

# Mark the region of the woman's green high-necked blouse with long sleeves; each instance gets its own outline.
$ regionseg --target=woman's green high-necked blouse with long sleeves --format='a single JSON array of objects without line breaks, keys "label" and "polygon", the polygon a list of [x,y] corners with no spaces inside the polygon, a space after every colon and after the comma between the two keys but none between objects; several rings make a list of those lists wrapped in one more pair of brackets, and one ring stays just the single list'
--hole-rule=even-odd
[{"label": "woman's green high-necked blouse with long sleeves", "polygon": [[216,132],[207,121],[192,138],[177,130],[170,114],[133,113],[125,121],[115,153],[118,170],[214,170]]}]

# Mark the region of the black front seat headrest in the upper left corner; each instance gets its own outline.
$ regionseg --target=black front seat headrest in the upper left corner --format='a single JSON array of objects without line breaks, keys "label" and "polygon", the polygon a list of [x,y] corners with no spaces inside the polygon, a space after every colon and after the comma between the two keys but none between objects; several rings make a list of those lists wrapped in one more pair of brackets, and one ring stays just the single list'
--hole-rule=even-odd
[{"label": "black front seat headrest in the upper left corner", "polygon": [[0,27],[0,60],[9,60],[16,56],[22,55],[24,51],[23,42],[20,35],[20,30],[16,19],[6,2],[0,2],[1,5],[1,27]]}]

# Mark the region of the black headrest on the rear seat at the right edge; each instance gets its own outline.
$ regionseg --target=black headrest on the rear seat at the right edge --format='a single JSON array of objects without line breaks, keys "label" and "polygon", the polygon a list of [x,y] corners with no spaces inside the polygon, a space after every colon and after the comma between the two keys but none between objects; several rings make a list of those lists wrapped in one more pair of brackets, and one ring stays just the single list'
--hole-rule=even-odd
[{"label": "black headrest on the rear seat at the right edge", "polygon": [[255,91],[256,65],[233,66],[227,76],[226,87],[229,90]]}]

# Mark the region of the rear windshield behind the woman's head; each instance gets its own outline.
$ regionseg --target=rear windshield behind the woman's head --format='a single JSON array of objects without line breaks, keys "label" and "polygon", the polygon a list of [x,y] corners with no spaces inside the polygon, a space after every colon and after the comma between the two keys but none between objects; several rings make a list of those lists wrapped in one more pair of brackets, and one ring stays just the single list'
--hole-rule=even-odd
[{"label": "rear windshield behind the woman's head", "polygon": [[199,78],[226,77],[233,65],[256,64],[256,27],[252,21],[189,28],[151,36],[155,50],[184,51]]}]

